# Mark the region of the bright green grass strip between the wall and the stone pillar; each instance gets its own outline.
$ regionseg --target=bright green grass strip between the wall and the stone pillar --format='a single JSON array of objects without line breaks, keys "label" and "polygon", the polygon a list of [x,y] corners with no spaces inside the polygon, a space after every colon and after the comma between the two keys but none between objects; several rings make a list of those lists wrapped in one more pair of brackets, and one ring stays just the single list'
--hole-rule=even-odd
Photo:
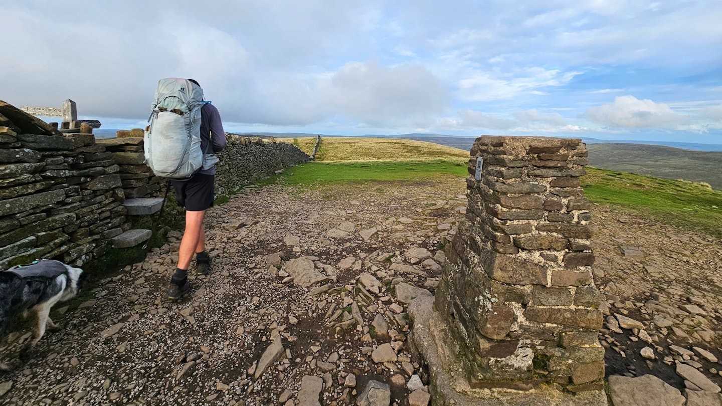
[{"label": "bright green grass strip between the wall and the stone pillar", "polygon": [[261,183],[280,180],[286,185],[329,186],[349,182],[435,181],[445,176],[464,177],[466,173],[466,162],[461,160],[316,162],[287,169],[283,175]]}]

